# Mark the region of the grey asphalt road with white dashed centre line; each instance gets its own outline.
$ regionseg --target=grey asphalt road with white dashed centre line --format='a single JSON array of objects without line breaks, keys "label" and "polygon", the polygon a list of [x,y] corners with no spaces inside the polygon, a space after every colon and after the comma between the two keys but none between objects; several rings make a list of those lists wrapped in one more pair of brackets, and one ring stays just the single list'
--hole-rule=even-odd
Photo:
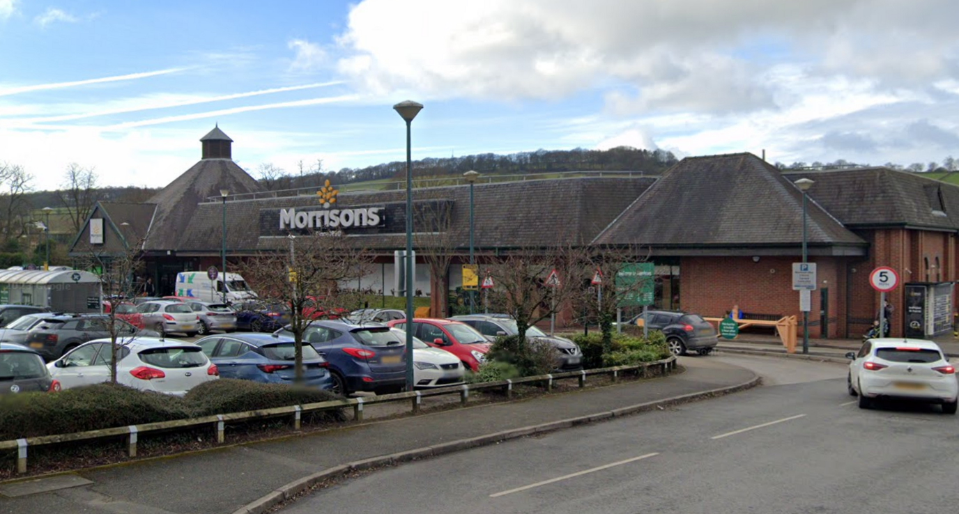
[{"label": "grey asphalt road with white dashed centre line", "polygon": [[862,410],[842,364],[715,356],[767,386],[381,470],[284,514],[951,511],[955,416]]}]

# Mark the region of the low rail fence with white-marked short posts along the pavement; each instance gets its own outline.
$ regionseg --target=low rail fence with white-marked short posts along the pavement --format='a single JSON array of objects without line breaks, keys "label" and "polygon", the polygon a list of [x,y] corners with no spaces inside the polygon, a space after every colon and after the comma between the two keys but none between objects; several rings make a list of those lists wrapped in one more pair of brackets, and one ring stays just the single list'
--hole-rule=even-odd
[{"label": "low rail fence with white-marked short posts along the pavement", "polygon": [[196,427],[210,426],[217,434],[217,443],[222,444],[225,441],[224,426],[228,422],[249,421],[252,419],[266,419],[283,416],[292,416],[292,429],[300,429],[300,418],[304,412],[317,412],[322,410],[353,408],[354,421],[363,421],[363,407],[386,404],[394,402],[409,401],[412,412],[420,410],[422,399],[430,396],[440,396],[447,394],[458,394],[461,405],[466,405],[470,391],[481,391],[488,389],[503,389],[507,398],[512,397],[513,386],[519,384],[543,383],[548,392],[552,391],[554,381],[564,379],[577,379],[580,387],[586,386],[586,377],[590,375],[612,375],[613,381],[619,379],[620,373],[636,371],[641,375],[646,374],[649,368],[659,368],[665,375],[667,369],[676,368],[676,358],[668,357],[661,361],[643,362],[642,364],[628,366],[614,366],[597,369],[588,369],[581,371],[567,371],[562,373],[550,373],[548,375],[539,375],[535,377],[523,377],[516,380],[504,380],[500,382],[484,382],[475,385],[440,387],[421,391],[400,392],[395,394],[384,394],[370,398],[347,398],[344,400],[330,400],[327,402],[318,402],[315,404],[296,405],[289,407],[277,407],[273,409],[248,410],[246,412],[232,412],[229,414],[217,414],[191,419],[178,419],[174,421],[160,421],[156,423],[145,423],[142,425],[130,425],[129,427],[115,427],[112,429],[101,429],[87,432],[60,433],[56,435],[39,435],[36,437],[25,437],[20,439],[0,441],[0,452],[16,450],[16,473],[24,474],[27,472],[27,450],[37,446],[47,446],[60,443],[69,443],[77,441],[89,441],[95,439],[107,439],[113,437],[127,438],[127,452],[130,457],[136,456],[137,436],[148,432],[174,432],[180,430],[190,430]]}]

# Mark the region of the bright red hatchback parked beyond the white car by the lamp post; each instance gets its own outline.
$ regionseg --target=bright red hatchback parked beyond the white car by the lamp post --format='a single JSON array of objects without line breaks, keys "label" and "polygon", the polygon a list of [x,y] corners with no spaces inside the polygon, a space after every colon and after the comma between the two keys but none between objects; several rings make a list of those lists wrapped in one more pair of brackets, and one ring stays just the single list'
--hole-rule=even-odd
[{"label": "bright red hatchback parked beyond the white car by the lamp post", "polygon": [[[394,319],[386,324],[400,330],[407,329],[406,319]],[[450,319],[417,317],[413,319],[412,324],[414,337],[423,339],[423,342],[434,348],[452,353],[463,362],[463,365],[473,371],[479,371],[479,363],[486,360],[486,352],[491,346],[489,339],[466,323]]]}]

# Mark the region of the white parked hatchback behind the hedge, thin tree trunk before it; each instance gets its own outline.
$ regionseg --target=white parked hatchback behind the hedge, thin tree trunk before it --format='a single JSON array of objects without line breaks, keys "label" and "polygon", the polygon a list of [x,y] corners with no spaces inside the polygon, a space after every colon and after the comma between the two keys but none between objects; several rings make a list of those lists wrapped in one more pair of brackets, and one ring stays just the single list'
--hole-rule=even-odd
[{"label": "white parked hatchback behind the hedge, thin tree trunk before it", "polygon": [[[117,383],[183,396],[194,386],[217,380],[216,364],[192,342],[138,338],[117,345]],[[94,339],[67,352],[47,369],[64,389],[110,380],[110,339]]]}]

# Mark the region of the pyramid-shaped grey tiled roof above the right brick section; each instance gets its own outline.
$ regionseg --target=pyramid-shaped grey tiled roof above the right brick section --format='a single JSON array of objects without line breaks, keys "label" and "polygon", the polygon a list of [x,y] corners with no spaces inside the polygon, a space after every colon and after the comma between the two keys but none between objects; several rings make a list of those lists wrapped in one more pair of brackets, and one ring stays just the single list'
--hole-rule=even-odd
[{"label": "pyramid-shaped grey tiled roof above the right brick section", "polygon": [[[752,153],[690,157],[647,189],[596,243],[801,245],[802,205],[799,188]],[[807,213],[810,245],[865,245],[814,201]]]}]

